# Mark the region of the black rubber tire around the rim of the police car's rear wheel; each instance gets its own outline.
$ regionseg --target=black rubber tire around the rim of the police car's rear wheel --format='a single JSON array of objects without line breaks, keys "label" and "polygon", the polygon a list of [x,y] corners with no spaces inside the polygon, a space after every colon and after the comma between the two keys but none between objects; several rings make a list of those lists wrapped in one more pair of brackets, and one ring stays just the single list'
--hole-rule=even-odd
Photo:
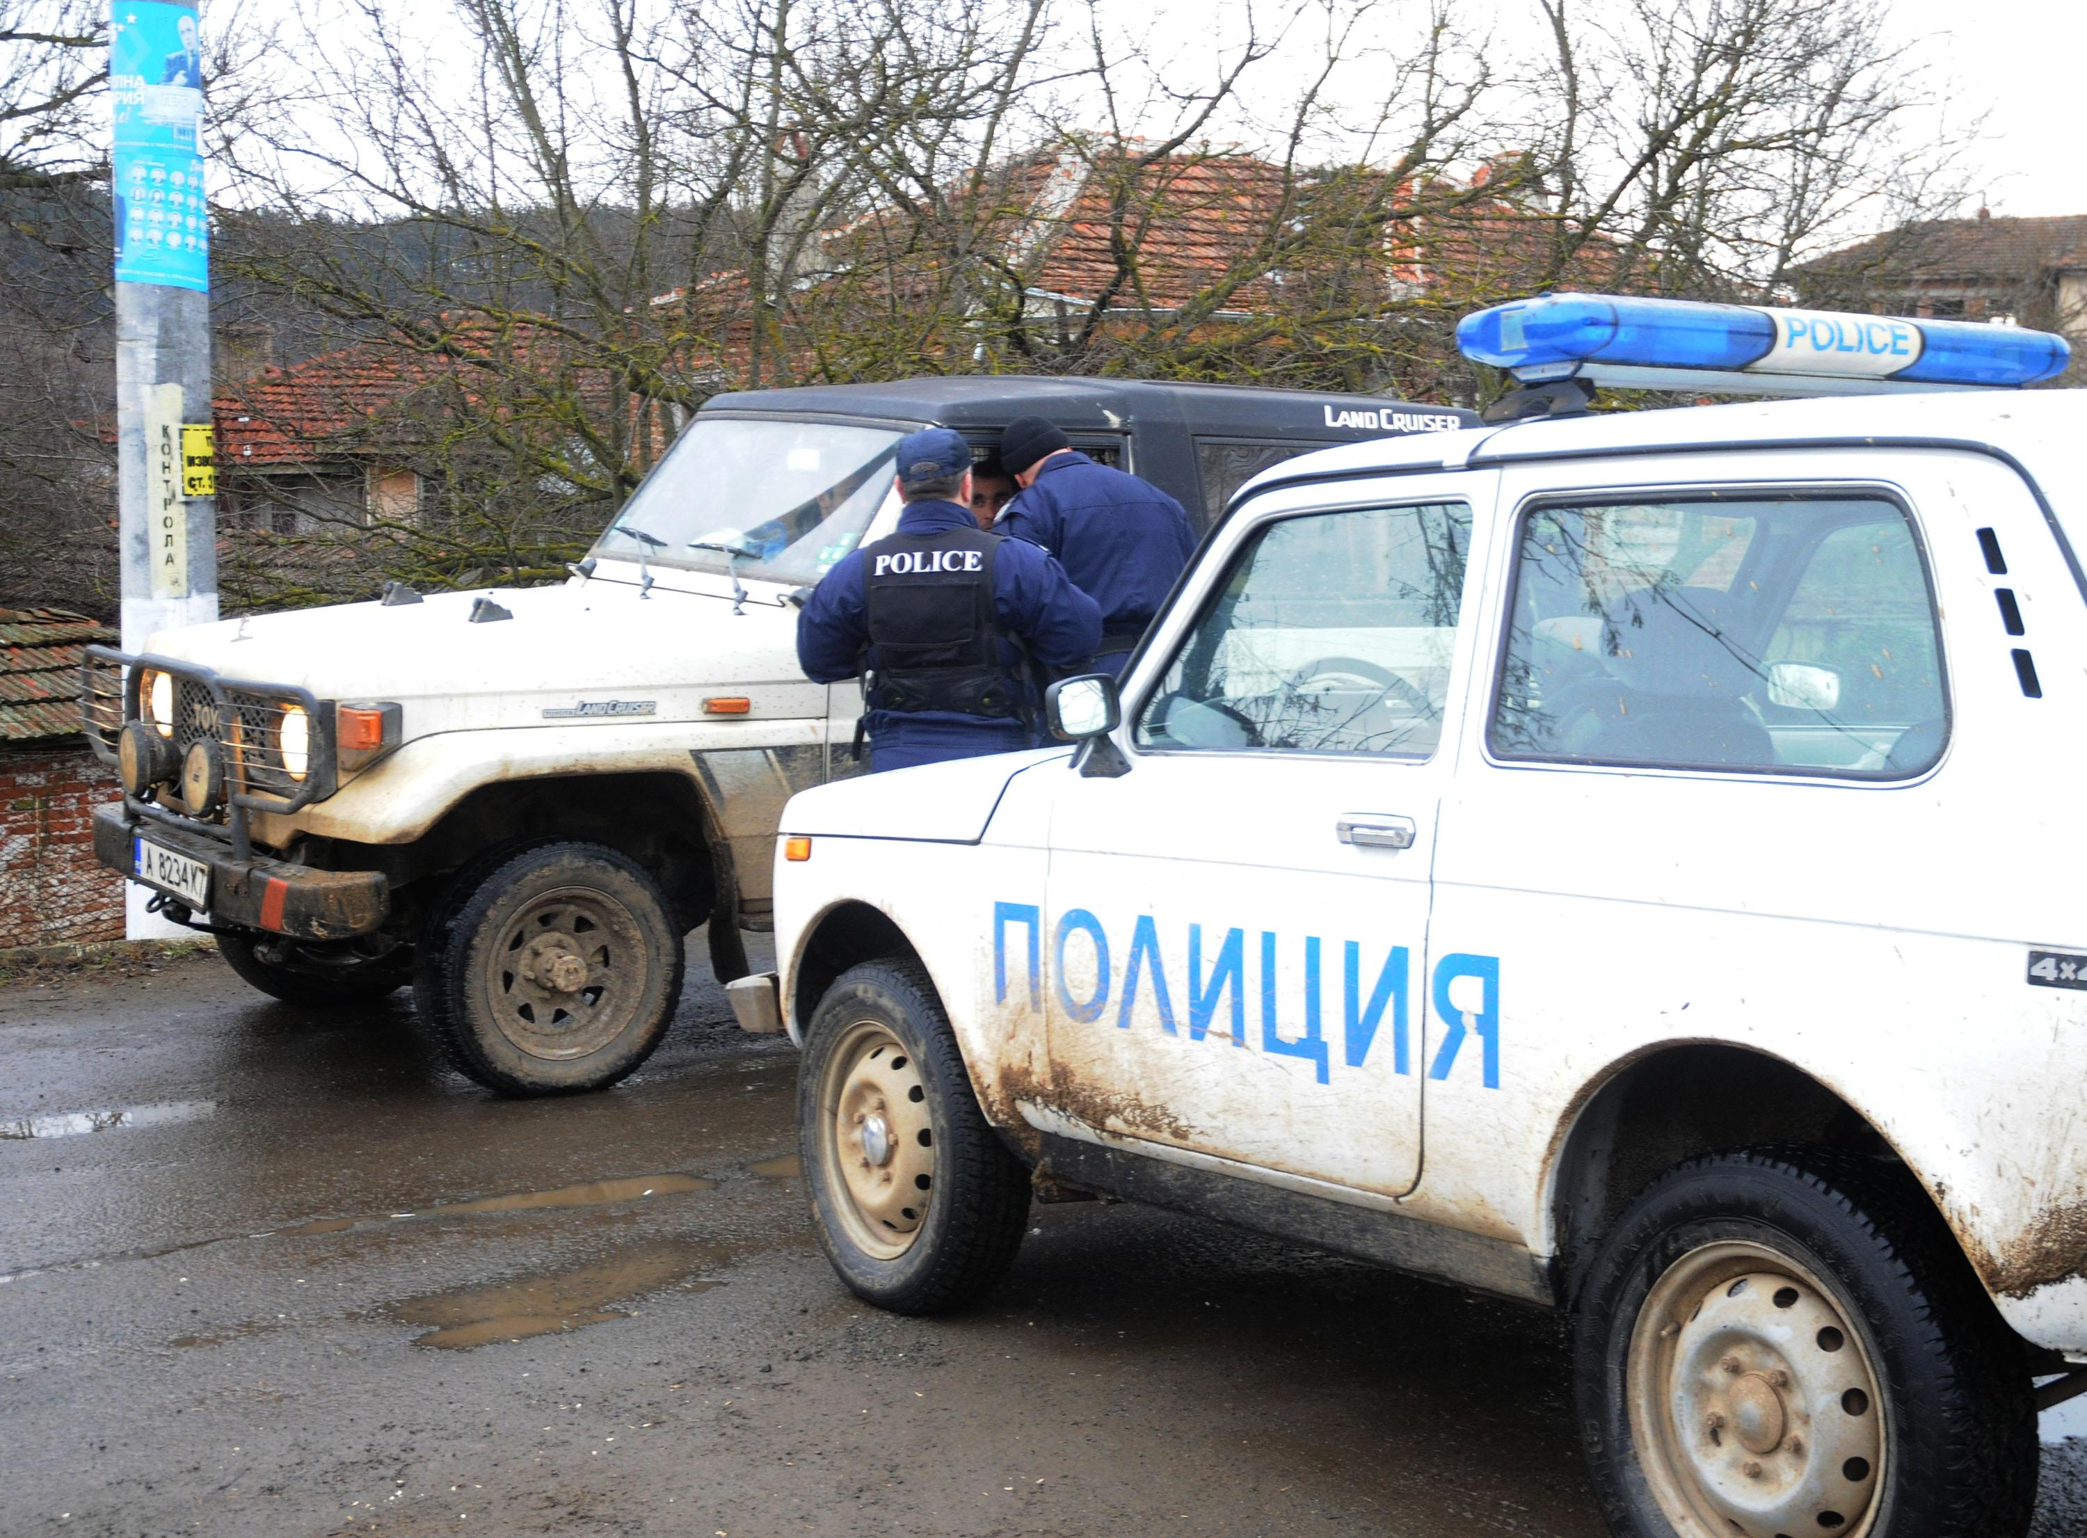
[{"label": "black rubber tire around the rim of the police car's rear wheel", "polygon": [[[1574,1377],[1594,1492],[1617,1538],[1676,1538],[1632,1442],[1626,1361],[1657,1279],[1720,1240],[1764,1244],[1839,1288],[1893,1427],[1862,1538],[2018,1538],[2037,1496],[2037,1411],[2006,1327],[1899,1164],[1791,1146],[1709,1154],[1645,1189],[1578,1290]],[[1824,1532],[1809,1528],[1809,1532]]]}]

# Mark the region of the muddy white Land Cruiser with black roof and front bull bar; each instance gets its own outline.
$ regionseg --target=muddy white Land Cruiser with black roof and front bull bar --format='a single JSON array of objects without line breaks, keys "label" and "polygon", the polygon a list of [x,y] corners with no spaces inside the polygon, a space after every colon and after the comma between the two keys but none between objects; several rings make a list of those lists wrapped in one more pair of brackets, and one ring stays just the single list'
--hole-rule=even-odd
[{"label": "muddy white Land Cruiser with black roof and front bull bar", "polygon": [[351,603],[90,653],[123,803],[102,864],[255,987],[415,1000],[509,1094],[637,1068],[710,922],[722,981],[768,927],[791,791],[849,774],[862,689],[797,670],[791,595],[889,534],[922,426],[985,453],[1025,413],[1171,490],[1196,528],[1256,470],[1469,411],[1127,380],[947,378],[720,394],[563,586]]}]

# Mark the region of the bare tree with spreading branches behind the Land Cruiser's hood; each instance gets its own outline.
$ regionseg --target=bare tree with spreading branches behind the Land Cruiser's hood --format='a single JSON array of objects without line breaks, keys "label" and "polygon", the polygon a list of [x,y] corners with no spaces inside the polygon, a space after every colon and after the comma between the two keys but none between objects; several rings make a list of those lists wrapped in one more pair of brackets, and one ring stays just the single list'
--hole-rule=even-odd
[{"label": "bare tree with spreading branches behind the Land Cruiser's hood", "polygon": [[353,15],[232,146],[219,267],[440,365],[451,430],[361,449],[440,486],[382,532],[449,580],[555,568],[724,378],[793,382],[820,232],[977,163],[1039,38],[987,0]]}]

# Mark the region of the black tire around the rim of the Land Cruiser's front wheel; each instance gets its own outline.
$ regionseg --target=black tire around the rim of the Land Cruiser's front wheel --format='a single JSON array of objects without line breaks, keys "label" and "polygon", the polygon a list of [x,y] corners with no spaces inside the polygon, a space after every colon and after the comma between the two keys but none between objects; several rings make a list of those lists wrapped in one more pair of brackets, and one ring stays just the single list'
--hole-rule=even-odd
[{"label": "black tire around the rim of the Land Cruiser's front wheel", "polygon": [[[547,1060],[518,1048],[493,1023],[484,947],[497,943],[534,895],[559,887],[591,887],[618,904],[634,920],[645,968],[630,1023],[614,1039],[580,1058]],[[430,947],[436,954],[419,979],[434,993],[428,1014],[445,1054],[459,1073],[505,1096],[607,1089],[643,1066],[680,1004],[682,939],[666,895],[637,860],[599,843],[530,845],[493,864],[476,885],[459,883],[453,914],[430,931]]]}]

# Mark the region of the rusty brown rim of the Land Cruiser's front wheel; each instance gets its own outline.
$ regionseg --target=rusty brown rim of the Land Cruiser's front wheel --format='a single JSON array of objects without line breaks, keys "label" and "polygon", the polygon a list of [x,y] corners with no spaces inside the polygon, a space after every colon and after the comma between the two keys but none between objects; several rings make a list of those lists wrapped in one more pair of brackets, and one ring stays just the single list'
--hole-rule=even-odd
[{"label": "rusty brown rim of the Land Cruiser's front wheel", "polygon": [[493,1023],[532,1058],[584,1058],[637,1018],[645,968],[645,933],[620,902],[591,887],[538,893],[486,952]]}]

